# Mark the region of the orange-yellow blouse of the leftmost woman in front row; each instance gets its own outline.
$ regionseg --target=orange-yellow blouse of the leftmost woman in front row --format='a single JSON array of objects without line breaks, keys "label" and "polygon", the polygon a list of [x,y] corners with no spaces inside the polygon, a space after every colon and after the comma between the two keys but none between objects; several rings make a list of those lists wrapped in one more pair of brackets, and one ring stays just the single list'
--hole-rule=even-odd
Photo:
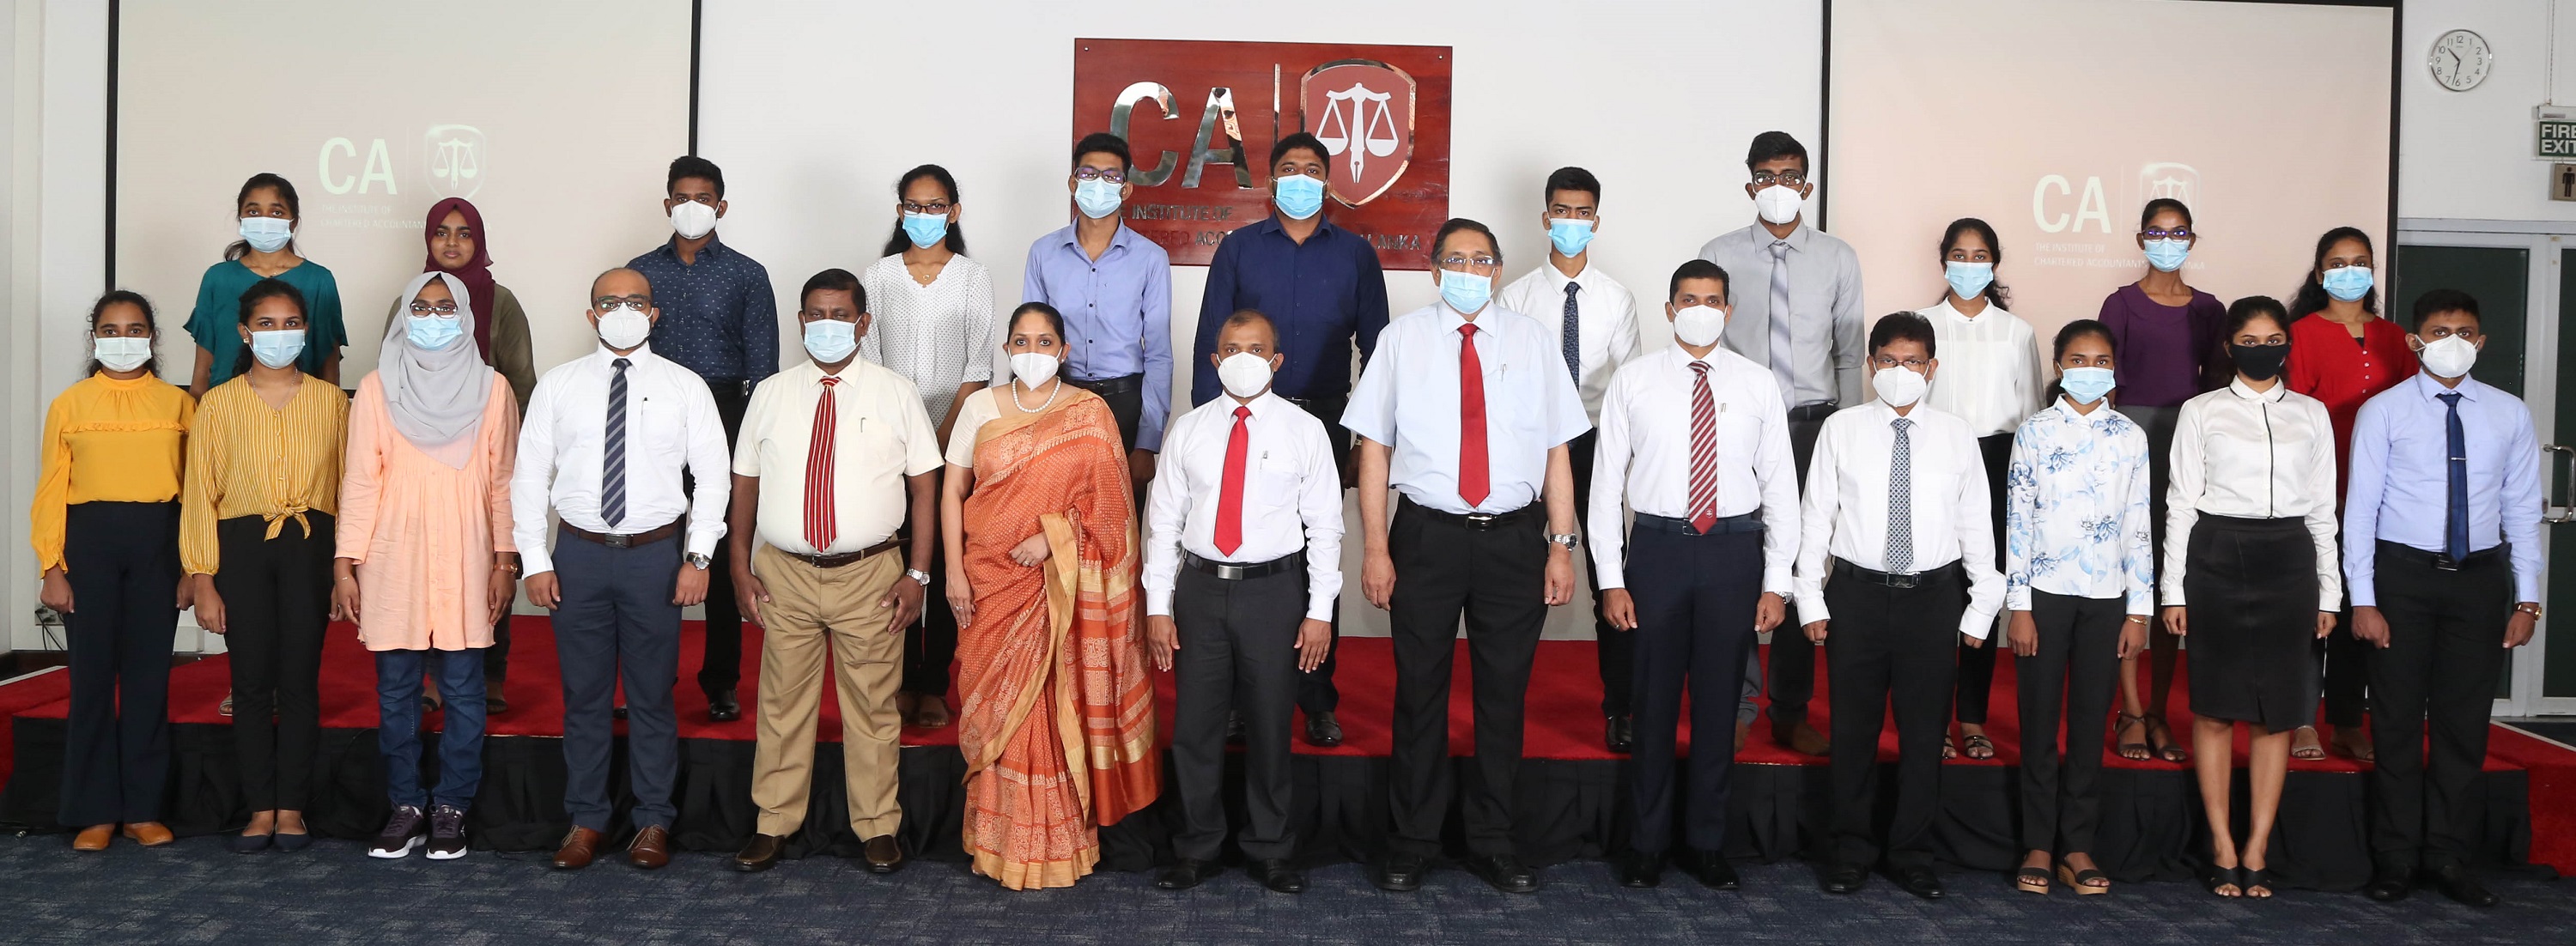
[{"label": "orange-yellow blouse of the leftmost woman in front row", "polygon": [[44,412],[28,541],[36,570],[62,567],[62,521],[75,503],[170,503],[196,400],[157,376],[90,374]]}]

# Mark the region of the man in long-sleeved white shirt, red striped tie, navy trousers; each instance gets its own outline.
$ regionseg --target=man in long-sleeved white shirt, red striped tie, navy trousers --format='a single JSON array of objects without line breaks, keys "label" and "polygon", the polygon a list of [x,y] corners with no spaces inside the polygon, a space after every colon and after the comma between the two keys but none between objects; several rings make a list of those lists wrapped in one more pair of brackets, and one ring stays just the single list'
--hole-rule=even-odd
[{"label": "man in long-sleeved white shirt, red striped tie, navy trousers", "polygon": [[[1798,474],[1788,410],[1770,371],[1718,348],[1726,271],[1682,263],[1664,294],[1674,345],[1618,369],[1602,400],[1592,487],[1592,570],[1602,613],[1636,637],[1636,827],[1618,864],[1625,887],[1656,887],[1672,838],[1672,755],[1690,686],[1690,729],[1731,732],[1754,634],[1788,613],[1798,557]],[[1628,536],[1620,500],[1636,510]],[[1631,554],[1633,552],[1633,554]],[[1736,889],[1726,864],[1731,740],[1690,753],[1687,853],[1700,884]]]}]

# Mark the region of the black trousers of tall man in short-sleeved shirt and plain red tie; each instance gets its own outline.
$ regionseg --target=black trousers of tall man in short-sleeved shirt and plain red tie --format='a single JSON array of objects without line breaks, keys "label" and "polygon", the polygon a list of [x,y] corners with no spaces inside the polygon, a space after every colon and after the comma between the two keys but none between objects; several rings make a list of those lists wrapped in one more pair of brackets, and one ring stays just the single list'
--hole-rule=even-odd
[{"label": "black trousers of tall man in short-sleeved shirt and plain red tie", "polygon": [[1388,766],[1388,843],[1401,853],[1440,853],[1448,820],[1450,753],[1448,688],[1466,619],[1466,655],[1476,686],[1473,784],[1458,789],[1466,845],[1512,853],[1512,786],[1520,773],[1522,701],[1530,660],[1548,619],[1540,595],[1548,572],[1546,516],[1525,510],[1492,528],[1404,500],[1386,528],[1396,565],[1388,619],[1396,644],[1394,760]]}]

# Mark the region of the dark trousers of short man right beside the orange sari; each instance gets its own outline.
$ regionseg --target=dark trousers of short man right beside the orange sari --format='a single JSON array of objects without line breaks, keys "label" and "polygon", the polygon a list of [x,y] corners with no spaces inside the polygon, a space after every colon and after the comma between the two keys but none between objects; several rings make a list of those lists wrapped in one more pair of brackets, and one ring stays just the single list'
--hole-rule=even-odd
[{"label": "dark trousers of short man right beside the orange sari", "polygon": [[1216,861],[1226,843],[1226,719],[1244,719],[1247,858],[1288,858],[1288,729],[1296,711],[1296,629],[1306,619],[1306,570],[1224,580],[1182,565],[1172,583],[1172,786],[1182,830],[1172,851]]}]

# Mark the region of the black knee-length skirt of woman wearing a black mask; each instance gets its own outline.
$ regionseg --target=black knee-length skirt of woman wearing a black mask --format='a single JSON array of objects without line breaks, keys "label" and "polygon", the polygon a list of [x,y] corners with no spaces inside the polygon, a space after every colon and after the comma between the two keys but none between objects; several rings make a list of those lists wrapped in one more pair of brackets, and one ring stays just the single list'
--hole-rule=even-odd
[{"label": "black knee-length skirt of woman wearing a black mask", "polygon": [[2316,539],[2300,518],[2192,523],[2192,714],[2290,732],[2316,722]]}]

